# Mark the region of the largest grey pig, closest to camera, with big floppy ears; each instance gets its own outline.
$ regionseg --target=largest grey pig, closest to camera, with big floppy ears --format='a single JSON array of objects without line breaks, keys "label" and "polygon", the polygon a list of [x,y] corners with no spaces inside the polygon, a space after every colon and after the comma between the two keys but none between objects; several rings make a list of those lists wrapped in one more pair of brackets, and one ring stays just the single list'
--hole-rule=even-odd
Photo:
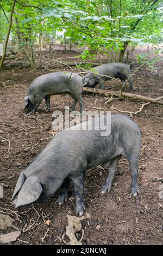
[{"label": "largest grey pig, closest to camera, with big floppy ears", "polygon": [[[103,122],[105,117],[106,115],[101,117]],[[15,207],[40,203],[59,188],[61,193],[58,203],[62,204],[67,199],[68,186],[72,180],[76,195],[76,213],[82,216],[85,171],[101,164],[109,166],[109,175],[101,193],[109,192],[118,160],[122,156],[128,159],[132,178],[131,195],[136,196],[140,150],[140,129],[124,115],[111,115],[109,136],[101,136],[100,129],[63,130],[21,172],[12,195],[12,199],[17,195],[14,200]]]}]

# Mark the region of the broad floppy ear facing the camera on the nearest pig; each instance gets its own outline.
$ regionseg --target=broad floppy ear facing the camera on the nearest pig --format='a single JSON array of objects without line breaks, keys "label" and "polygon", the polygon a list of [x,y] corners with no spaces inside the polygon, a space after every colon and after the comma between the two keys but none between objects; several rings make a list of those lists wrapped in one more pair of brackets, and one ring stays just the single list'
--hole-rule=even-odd
[{"label": "broad floppy ear facing the camera on the nearest pig", "polygon": [[39,199],[42,192],[41,184],[38,182],[38,178],[30,176],[24,182],[20,192],[17,196],[16,208],[18,206],[28,205],[34,203]]}]

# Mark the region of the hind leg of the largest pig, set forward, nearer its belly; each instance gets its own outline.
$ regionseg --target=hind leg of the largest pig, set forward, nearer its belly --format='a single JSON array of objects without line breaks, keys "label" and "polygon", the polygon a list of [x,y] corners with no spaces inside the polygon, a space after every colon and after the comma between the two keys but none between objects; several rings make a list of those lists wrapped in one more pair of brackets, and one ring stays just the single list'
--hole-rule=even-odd
[{"label": "hind leg of the largest pig, set forward, nearer its belly", "polygon": [[[111,159],[109,162],[108,162],[108,165],[109,165],[109,175],[108,175],[108,178],[106,179],[106,182],[101,190],[101,193],[104,194],[106,192],[109,192],[110,189],[111,189],[111,185],[112,185],[112,181],[114,179],[114,175],[115,175],[115,172],[117,170],[117,164],[118,164],[118,160],[121,158],[121,156],[117,156],[113,159]],[[105,163],[105,165],[107,165],[107,163]]]}]

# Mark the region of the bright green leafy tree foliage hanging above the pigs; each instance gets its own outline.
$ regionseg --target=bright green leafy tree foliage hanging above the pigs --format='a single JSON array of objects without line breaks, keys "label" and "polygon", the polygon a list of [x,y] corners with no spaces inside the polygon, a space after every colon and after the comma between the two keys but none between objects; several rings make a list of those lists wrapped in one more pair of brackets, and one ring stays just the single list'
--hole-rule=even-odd
[{"label": "bright green leafy tree foliage hanging above the pigs", "polygon": [[[38,43],[40,34],[47,41],[65,37],[71,43],[88,47],[80,56],[86,60],[94,58],[97,49],[117,52],[124,51],[128,43],[158,44],[162,40],[161,0],[20,0],[20,3],[33,5],[15,5],[10,38],[18,38],[20,47]],[[7,33],[11,4],[12,0],[1,0],[0,41]]]}]

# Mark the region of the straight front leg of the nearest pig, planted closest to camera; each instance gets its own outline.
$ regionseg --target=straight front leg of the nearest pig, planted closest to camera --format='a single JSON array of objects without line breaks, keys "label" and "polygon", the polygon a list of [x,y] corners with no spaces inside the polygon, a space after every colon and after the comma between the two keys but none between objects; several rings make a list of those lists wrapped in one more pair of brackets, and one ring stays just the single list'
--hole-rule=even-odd
[{"label": "straight front leg of the nearest pig, planted closest to camera", "polygon": [[76,215],[81,217],[84,213],[84,200],[83,200],[83,187],[84,187],[84,174],[72,177],[74,183],[74,192],[76,195]]}]

